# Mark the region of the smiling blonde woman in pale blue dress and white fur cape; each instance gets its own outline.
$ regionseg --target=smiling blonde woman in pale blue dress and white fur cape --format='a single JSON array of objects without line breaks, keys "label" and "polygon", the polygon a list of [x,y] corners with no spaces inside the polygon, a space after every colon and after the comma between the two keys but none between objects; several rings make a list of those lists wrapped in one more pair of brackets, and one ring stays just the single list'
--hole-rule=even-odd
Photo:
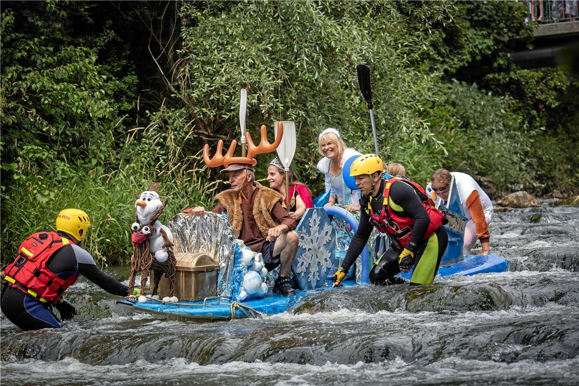
[{"label": "smiling blonde woman in pale blue dress and white fur cape", "polygon": [[362,153],[355,149],[347,148],[345,142],[340,137],[340,133],[334,127],[328,127],[318,136],[319,152],[324,156],[317,168],[325,175],[325,191],[331,191],[329,201],[324,206],[342,205],[348,211],[359,211],[360,196],[357,190],[352,191],[344,182],[343,167],[352,156],[361,156]]}]

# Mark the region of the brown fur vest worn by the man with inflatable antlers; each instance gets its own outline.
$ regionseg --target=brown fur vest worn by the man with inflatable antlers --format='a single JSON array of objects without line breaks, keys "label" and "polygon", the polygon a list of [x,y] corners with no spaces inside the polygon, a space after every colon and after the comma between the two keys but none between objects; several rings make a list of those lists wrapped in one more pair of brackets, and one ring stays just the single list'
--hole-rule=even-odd
[{"label": "brown fur vest worn by the man with inflatable antlers", "polygon": [[[272,218],[272,208],[278,201],[283,202],[283,196],[273,189],[262,186],[259,182],[254,182],[255,189],[258,189],[255,196],[253,215],[255,223],[261,231],[263,237],[267,237],[267,231],[270,228],[276,227],[278,224]],[[241,233],[241,225],[243,224],[243,211],[237,193],[232,189],[225,190],[215,196],[217,200],[225,207],[225,211],[231,220],[231,226],[237,234]]]}]

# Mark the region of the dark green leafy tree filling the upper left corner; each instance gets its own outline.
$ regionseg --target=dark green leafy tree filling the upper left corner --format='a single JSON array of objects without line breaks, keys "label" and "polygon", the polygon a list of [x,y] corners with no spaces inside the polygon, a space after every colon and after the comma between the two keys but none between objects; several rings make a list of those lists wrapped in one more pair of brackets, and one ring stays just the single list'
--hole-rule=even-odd
[{"label": "dark green leafy tree filling the upper left corner", "polygon": [[117,68],[99,63],[107,31],[74,38],[71,19],[90,23],[89,6],[21,2],[3,9],[3,170],[42,165],[60,178],[70,166],[94,167],[115,156],[114,146],[103,145],[117,134],[123,111],[134,108],[135,78],[122,58]]}]

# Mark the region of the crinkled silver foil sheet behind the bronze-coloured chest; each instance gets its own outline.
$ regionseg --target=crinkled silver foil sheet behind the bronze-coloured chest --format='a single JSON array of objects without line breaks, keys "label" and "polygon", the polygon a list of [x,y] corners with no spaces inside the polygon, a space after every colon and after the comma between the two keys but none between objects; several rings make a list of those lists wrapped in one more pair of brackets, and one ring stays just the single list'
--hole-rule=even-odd
[{"label": "crinkled silver foil sheet behind the bronze-coloured chest", "polygon": [[230,296],[229,276],[233,268],[237,235],[229,218],[213,212],[204,216],[179,213],[169,221],[175,237],[175,252],[207,253],[219,263],[217,292],[219,296]]}]

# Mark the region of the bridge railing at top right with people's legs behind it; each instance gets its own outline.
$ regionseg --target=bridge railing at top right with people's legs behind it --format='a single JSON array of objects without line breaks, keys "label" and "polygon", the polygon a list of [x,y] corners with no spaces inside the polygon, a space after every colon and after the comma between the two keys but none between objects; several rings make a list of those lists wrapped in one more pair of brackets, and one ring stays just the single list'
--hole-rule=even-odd
[{"label": "bridge railing at top right with people's legs behind it", "polygon": [[577,0],[525,0],[529,8],[527,23],[541,24],[579,20]]}]

